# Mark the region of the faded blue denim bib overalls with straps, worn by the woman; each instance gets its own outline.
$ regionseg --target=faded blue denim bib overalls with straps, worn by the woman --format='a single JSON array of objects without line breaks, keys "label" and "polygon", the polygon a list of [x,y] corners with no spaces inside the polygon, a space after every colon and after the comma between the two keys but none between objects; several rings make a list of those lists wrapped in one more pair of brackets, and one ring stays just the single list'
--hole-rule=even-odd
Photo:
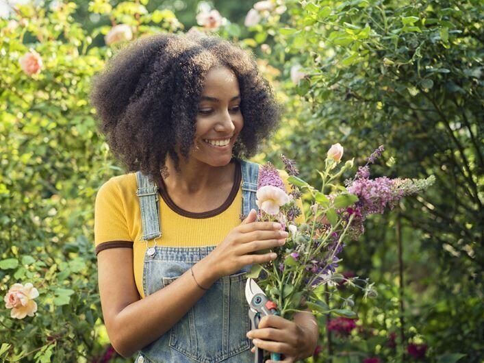
[{"label": "faded blue denim bib overalls with straps, worn by the woman", "polygon": [[[255,204],[259,164],[240,160],[242,168],[242,214]],[[151,177],[136,173],[142,218],[141,240],[162,236],[158,192]],[[144,254],[144,296],[175,281],[216,246],[149,247]],[[251,265],[218,279],[178,323],[163,336],[141,349],[136,363],[244,363],[253,362],[249,339],[249,304],[245,299],[244,275]]]}]

